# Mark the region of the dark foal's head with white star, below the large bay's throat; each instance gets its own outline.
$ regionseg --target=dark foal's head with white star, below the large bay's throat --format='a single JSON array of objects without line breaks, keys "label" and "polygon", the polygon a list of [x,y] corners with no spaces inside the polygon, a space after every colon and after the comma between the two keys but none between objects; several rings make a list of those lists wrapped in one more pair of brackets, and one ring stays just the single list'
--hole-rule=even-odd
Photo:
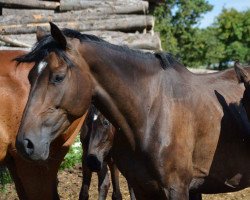
[{"label": "dark foal's head with white star, below the large bay's throat", "polygon": [[100,171],[113,145],[114,127],[95,108],[91,108],[87,120],[90,135],[87,166],[91,171]]}]

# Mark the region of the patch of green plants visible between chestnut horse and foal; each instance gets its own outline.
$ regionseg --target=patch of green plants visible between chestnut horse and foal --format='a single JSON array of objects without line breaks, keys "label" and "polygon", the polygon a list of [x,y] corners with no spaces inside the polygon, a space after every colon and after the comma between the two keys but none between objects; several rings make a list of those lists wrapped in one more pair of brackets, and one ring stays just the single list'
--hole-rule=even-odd
[{"label": "patch of green plants visible between chestnut horse and foal", "polygon": [[75,143],[70,147],[69,152],[64,157],[60,169],[72,168],[82,162],[82,144],[78,136]]}]

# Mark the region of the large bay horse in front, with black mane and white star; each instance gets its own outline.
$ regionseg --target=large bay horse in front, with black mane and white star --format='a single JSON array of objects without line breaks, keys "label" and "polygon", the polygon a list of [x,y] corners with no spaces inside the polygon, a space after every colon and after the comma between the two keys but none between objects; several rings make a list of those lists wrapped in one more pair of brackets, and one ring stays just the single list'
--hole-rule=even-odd
[{"label": "large bay horse in front, with black mane and white star", "polygon": [[23,156],[47,159],[49,144],[93,103],[116,128],[113,159],[137,199],[201,199],[250,185],[250,144],[235,120],[244,88],[233,69],[197,75],[170,54],[50,24],[16,59],[45,65],[17,135]]}]

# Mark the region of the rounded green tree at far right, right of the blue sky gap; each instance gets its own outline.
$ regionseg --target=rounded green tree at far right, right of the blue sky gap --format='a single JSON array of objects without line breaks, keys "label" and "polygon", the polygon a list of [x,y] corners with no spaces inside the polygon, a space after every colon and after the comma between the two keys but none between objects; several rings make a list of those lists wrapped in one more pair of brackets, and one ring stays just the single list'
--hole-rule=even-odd
[{"label": "rounded green tree at far right, right of the blue sky gap", "polygon": [[250,10],[238,12],[235,9],[223,9],[214,24],[216,36],[225,46],[221,65],[239,59],[250,63]]}]

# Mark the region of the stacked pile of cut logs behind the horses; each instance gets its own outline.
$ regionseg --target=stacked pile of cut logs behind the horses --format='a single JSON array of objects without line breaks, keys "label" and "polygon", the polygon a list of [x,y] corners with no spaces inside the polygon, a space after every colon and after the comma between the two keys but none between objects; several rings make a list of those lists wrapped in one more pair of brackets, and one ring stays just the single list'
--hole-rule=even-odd
[{"label": "stacked pile of cut logs behind the horses", "polygon": [[30,48],[37,26],[49,31],[50,21],[61,28],[94,34],[108,42],[142,50],[160,50],[154,18],[142,0],[0,0],[0,48]]}]

